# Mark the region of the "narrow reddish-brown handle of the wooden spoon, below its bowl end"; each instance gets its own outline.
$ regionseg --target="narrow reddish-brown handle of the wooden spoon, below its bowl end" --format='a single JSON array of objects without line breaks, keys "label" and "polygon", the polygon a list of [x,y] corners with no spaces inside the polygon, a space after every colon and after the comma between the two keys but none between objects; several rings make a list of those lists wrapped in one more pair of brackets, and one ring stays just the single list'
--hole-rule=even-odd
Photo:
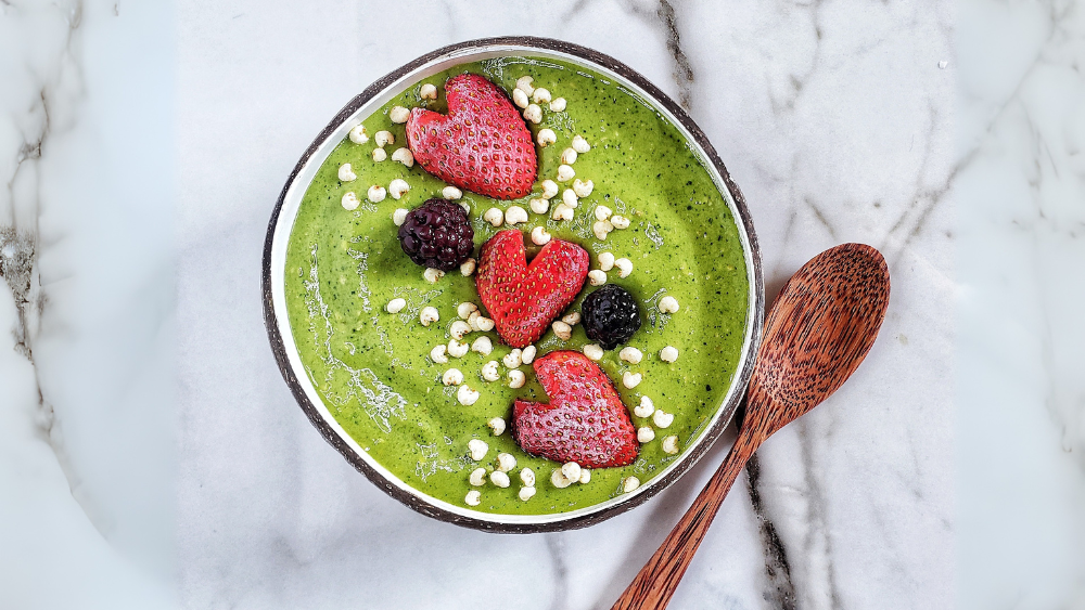
[{"label": "narrow reddish-brown handle of the wooden spoon, below its bowl end", "polygon": [[712,519],[727,497],[727,492],[753,456],[753,452],[757,451],[765,440],[765,437],[756,431],[761,426],[751,426],[752,421],[745,424],[739,429],[738,439],[730,453],[698,494],[693,505],[671,530],[655,555],[644,563],[611,610],[663,610],[667,607],[671,596],[686,573],[686,568],[697,553],[697,547],[704,540]]}]

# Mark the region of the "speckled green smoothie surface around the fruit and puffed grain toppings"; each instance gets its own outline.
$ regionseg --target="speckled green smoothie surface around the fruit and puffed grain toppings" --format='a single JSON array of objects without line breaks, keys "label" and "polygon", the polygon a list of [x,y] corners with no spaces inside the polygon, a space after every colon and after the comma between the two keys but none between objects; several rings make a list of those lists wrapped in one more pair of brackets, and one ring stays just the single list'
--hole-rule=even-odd
[{"label": "speckled green smoothie surface around the fruit and puffed grain toppings", "polygon": [[[634,263],[627,277],[615,268],[608,283],[627,289],[641,303],[640,329],[626,343],[643,352],[638,364],[618,359],[617,349],[605,352],[599,365],[610,376],[629,410],[637,428],[652,427],[655,439],[641,444],[637,460],[622,468],[591,471],[588,483],[557,489],[551,472],[561,464],[533,457],[513,441],[510,431],[495,436],[486,423],[502,417],[510,424],[514,399],[548,402],[531,365],[519,368],[527,376],[520,389],[509,387],[508,369],[499,366],[501,379],[485,381],[481,369],[489,361],[501,363],[511,351],[496,332],[472,333],[463,340],[486,335],[494,351],[474,351],[449,358],[448,364],[430,359],[430,350],[449,341],[448,328],[458,320],[457,306],[470,301],[482,308],[474,276],[451,271],[436,283],[423,277],[424,269],[403,252],[392,220],[397,208],[411,209],[431,197],[441,197],[447,184],[427,174],[416,164],[408,168],[392,160],[392,153],[406,146],[403,125],[393,124],[394,106],[423,106],[446,112],[444,82],[447,78],[475,73],[511,93],[516,79],[532,76],[535,87],[545,87],[553,98],[567,102],[563,112],[542,107],[539,125],[528,122],[533,137],[552,129],[554,144],[536,146],[539,172],[534,193],[516,200],[496,200],[463,193],[460,202],[471,206],[469,216],[475,231],[475,256],[480,246],[501,230],[482,220],[493,207],[507,210],[519,205],[528,210],[523,231],[528,259],[540,248],[532,244],[531,230],[542,225],[556,239],[579,244],[598,269],[598,255],[612,252]],[[420,87],[437,87],[437,100],[421,100]],[[736,219],[724,195],[701,165],[679,130],[650,104],[603,75],[579,66],[535,57],[498,57],[458,65],[425,78],[371,114],[363,121],[370,140],[356,144],[344,139],[319,168],[308,186],[291,232],[285,267],[288,316],[294,341],[306,373],[324,404],[343,429],[374,460],[407,484],[447,503],[494,514],[544,515],[577,510],[622,494],[622,481],[637,477],[641,484],[662,472],[704,432],[719,408],[737,367],[748,320],[748,273]],[[384,146],[388,159],[376,163],[373,135],[387,130],[394,144]],[[591,180],[592,193],[579,200],[572,221],[553,221],[550,215],[531,212],[528,200],[541,196],[541,182],[558,181],[558,166],[572,138],[583,135],[591,146],[580,154],[573,168],[576,178]],[[357,179],[342,182],[339,168],[352,164]],[[394,179],[406,180],[410,191],[396,200],[391,195],[371,203],[366,194],[371,185],[385,189]],[[559,183],[563,191],[572,181]],[[361,205],[348,211],[341,205],[347,192],[357,194]],[[561,192],[551,199],[550,210],[561,202]],[[600,241],[592,234],[595,208],[607,206],[627,217],[628,229],[615,230]],[[567,311],[579,311],[580,302],[596,288],[585,284]],[[664,296],[678,300],[676,313],[661,313]],[[407,300],[396,314],[385,311],[394,298]],[[423,326],[419,312],[432,306],[439,322]],[[485,313],[485,311],[484,311]],[[562,341],[548,330],[536,347],[541,356],[554,350],[579,351],[591,343],[583,325],[573,327]],[[660,350],[673,346],[680,355],[674,363],[660,359]],[[442,374],[458,368],[464,384],[481,392],[474,404],[457,401],[456,387],[445,387]],[[634,389],[622,384],[625,372],[640,373]],[[674,414],[666,429],[658,429],[651,417],[633,414],[641,397],[650,397],[656,408]],[[667,436],[677,436],[680,453],[662,449]],[[468,442],[482,439],[489,445],[485,458],[469,456]],[[497,468],[497,455],[509,453],[516,467],[508,472],[512,484],[498,488],[488,480],[471,486],[468,477],[483,467]],[[536,475],[537,493],[528,501],[518,496],[521,469]],[[468,507],[470,490],[482,493],[478,506]]]}]

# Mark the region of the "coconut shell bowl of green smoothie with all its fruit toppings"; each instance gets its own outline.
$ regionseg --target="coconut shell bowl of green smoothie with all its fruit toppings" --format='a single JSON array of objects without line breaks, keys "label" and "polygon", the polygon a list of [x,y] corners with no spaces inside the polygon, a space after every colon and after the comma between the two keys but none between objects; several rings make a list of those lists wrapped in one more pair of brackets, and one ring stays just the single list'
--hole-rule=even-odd
[{"label": "coconut shell bowl of green smoothie with all its fruit toppings", "polygon": [[283,187],[263,289],[332,446],[419,512],[514,533],[593,524],[688,471],[742,400],[765,309],[703,132],[617,61],[525,37],[352,100]]}]

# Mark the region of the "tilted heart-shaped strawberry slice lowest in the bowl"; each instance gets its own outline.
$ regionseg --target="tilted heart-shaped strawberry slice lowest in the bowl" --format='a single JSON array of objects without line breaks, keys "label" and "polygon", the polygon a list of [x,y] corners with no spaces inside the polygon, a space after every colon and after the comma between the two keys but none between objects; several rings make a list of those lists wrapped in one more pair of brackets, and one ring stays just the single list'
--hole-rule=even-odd
[{"label": "tilted heart-shaped strawberry slice lowest in the bowl", "polygon": [[599,365],[579,352],[556,351],[535,360],[550,404],[518,400],[512,437],[532,455],[584,468],[628,466],[640,445],[617,390]]}]

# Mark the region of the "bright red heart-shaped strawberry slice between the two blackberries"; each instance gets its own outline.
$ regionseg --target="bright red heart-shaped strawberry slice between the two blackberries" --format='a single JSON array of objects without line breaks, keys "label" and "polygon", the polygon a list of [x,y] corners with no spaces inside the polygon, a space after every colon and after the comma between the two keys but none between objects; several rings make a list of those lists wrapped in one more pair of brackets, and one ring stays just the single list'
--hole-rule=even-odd
[{"label": "bright red heart-shaped strawberry slice between the two blackberries", "polygon": [[588,252],[551,239],[527,264],[524,235],[501,231],[483,244],[475,286],[497,334],[514,348],[539,339],[573,302],[588,276]]}]

